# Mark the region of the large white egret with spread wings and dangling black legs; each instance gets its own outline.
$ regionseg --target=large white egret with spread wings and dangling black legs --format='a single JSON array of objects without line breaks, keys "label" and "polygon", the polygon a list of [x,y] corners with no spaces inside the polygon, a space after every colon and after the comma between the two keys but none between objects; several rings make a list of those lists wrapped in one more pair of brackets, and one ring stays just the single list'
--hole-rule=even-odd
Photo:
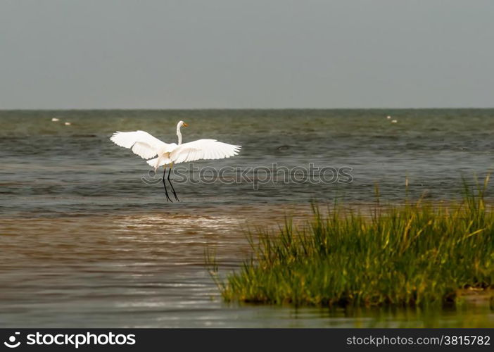
[{"label": "large white egret with spread wings and dangling black legs", "polygon": [[154,167],[155,172],[160,166],[165,167],[165,170],[163,170],[163,186],[165,187],[167,201],[172,201],[170,196],[168,196],[165,184],[167,166],[170,166],[167,180],[170,182],[175,199],[179,201],[175,189],[173,188],[173,184],[170,181],[170,172],[174,164],[186,163],[199,159],[229,158],[230,156],[236,156],[241,149],[241,146],[217,142],[216,139],[198,139],[194,142],[182,144],[182,133],[180,132],[180,127],[182,126],[188,127],[189,125],[184,121],[178,122],[178,144],[165,143],[144,131],[115,132],[113,136],[110,137],[110,140],[118,146],[132,149],[135,154],[143,159],[150,159],[147,163]]}]

